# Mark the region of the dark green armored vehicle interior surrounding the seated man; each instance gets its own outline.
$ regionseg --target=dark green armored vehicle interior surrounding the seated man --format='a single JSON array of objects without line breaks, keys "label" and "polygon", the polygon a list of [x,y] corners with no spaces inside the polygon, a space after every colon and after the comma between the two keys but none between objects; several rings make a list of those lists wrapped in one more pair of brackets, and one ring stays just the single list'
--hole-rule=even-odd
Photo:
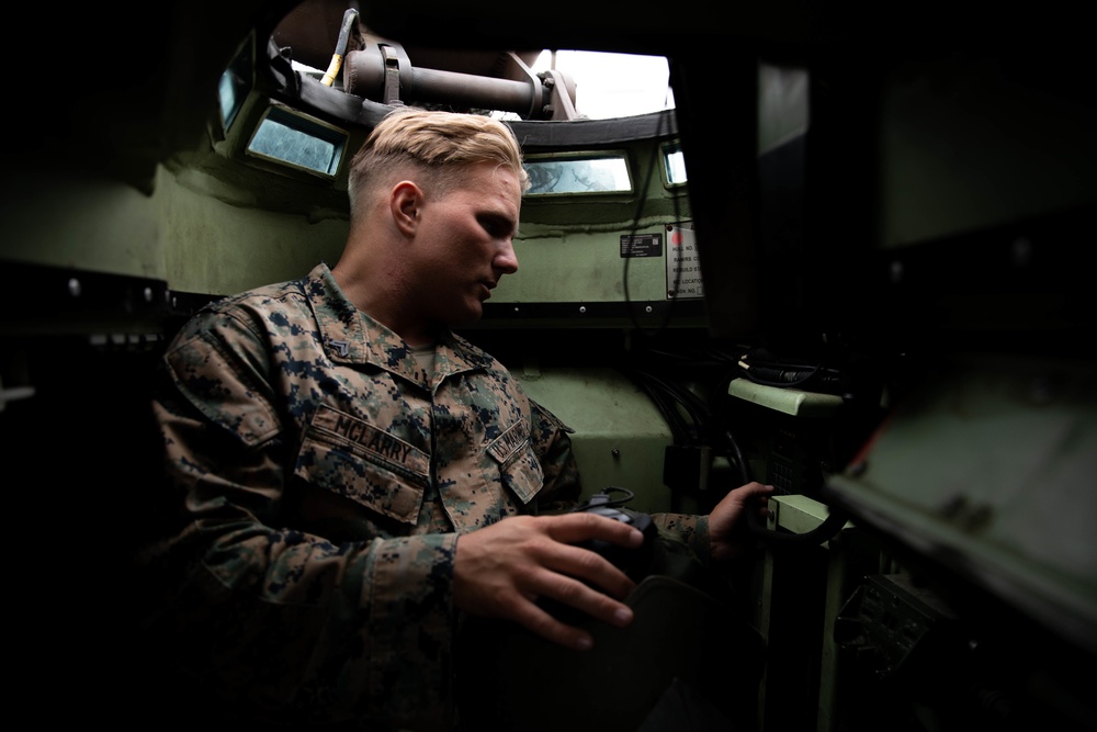
[{"label": "dark green armored vehicle interior surrounding the seated man", "polygon": [[[7,94],[9,713],[172,719],[127,570],[150,371],[204,303],[338,258],[347,161],[408,104],[523,145],[521,267],[462,335],[576,430],[585,492],[777,487],[743,578],[758,730],[1097,729],[1095,65],[1007,42],[1031,16],[874,12],[60,12]],[[566,52],[658,61],[663,103],[585,113]]]}]

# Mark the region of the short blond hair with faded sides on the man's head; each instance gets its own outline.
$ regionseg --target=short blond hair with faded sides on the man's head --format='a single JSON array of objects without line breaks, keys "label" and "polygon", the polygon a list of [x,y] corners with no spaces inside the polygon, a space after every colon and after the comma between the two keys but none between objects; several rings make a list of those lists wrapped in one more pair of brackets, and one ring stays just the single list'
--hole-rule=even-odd
[{"label": "short blond hair with faded sides on the man's head", "polygon": [[507,168],[518,177],[521,192],[529,190],[522,148],[509,125],[479,114],[395,110],[377,123],[350,161],[351,214],[363,191],[392,176],[415,172],[417,183],[444,194],[461,182],[464,168],[480,162]]}]

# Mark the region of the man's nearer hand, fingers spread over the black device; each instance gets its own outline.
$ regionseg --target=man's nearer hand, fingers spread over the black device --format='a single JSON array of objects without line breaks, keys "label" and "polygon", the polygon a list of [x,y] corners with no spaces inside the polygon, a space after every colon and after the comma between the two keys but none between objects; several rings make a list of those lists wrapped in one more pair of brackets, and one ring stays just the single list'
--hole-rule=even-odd
[{"label": "man's nearer hand, fingers spread over the black device", "polygon": [[514,516],[462,534],[454,601],[470,615],[513,620],[554,643],[589,649],[590,633],[554,618],[538,600],[551,598],[620,628],[632,622],[632,609],[621,599],[635,583],[597,552],[575,545],[592,539],[638,548],[644,536],[586,513]]}]

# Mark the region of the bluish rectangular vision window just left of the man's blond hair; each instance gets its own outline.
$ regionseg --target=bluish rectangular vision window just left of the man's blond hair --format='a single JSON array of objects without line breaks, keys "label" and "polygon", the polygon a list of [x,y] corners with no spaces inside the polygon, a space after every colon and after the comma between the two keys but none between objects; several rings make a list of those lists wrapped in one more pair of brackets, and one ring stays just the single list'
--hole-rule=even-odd
[{"label": "bluish rectangular vision window just left of the man's blond hair", "polygon": [[335,177],[347,148],[344,131],[280,106],[267,111],[248,153],[294,168]]}]

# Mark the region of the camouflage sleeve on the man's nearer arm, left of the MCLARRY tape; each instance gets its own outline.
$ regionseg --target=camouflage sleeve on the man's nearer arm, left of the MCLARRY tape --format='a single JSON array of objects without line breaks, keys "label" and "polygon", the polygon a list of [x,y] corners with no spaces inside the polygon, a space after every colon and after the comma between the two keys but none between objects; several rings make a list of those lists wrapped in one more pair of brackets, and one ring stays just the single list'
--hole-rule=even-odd
[{"label": "camouflage sleeve on the man's nearer arm, left of the MCLARRY tape", "polygon": [[154,410],[182,507],[143,553],[152,637],[197,692],[280,723],[440,729],[451,703],[454,534],[331,543],[287,528],[291,455],[244,318],[181,335]]}]

